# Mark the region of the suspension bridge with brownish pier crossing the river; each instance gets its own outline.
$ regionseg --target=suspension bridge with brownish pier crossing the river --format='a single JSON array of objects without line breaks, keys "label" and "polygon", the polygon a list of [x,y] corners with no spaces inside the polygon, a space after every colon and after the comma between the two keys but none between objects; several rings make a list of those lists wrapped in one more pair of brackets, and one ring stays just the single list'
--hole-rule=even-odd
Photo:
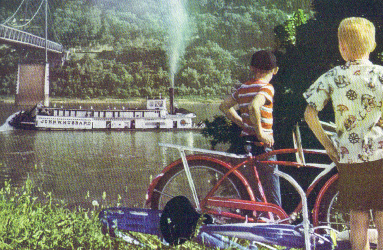
[{"label": "suspension bridge with brownish pier crossing the river", "polygon": [[[49,105],[49,61],[57,62],[57,58],[62,61],[65,58],[65,51],[62,44],[48,39],[48,12],[48,0],[22,0],[16,11],[0,23],[0,44],[21,47],[27,56],[31,49],[45,50],[44,59],[31,60],[27,57],[26,61],[19,63],[15,105],[36,105],[38,102]],[[29,17],[31,13],[34,14]],[[53,23],[50,27],[56,35]],[[27,30],[34,30],[39,35]]]}]

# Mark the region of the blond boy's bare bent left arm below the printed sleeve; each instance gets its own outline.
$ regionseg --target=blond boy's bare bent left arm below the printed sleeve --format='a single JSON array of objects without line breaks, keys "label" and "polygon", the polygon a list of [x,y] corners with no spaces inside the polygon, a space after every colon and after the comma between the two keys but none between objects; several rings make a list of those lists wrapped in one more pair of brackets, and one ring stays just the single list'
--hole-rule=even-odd
[{"label": "blond boy's bare bent left arm below the printed sleeve", "polygon": [[338,152],[331,142],[330,138],[324,133],[323,127],[319,122],[318,111],[316,111],[310,105],[307,105],[306,110],[304,111],[304,120],[313,131],[316,138],[318,138],[319,142],[324,146],[324,149],[327,151],[327,155],[331,158],[332,161],[339,161]]}]

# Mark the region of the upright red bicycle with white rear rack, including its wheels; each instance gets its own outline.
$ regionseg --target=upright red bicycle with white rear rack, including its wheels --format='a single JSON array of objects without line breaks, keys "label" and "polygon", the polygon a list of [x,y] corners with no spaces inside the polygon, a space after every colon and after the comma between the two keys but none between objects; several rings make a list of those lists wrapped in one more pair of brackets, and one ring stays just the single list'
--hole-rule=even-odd
[{"label": "upright red bicycle with white rear rack, including its wheels", "polygon": [[[322,122],[326,133],[331,136],[335,133],[333,124]],[[314,229],[324,228],[343,231],[348,229],[348,214],[340,210],[337,205],[337,173],[328,177],[333,171],[335,164],[307,163],[308,154],[326,155],[325,150],[302,148],[300,127],[297,123],[293,131],[294,148],[273,150],[268,153],[252,156],[236,155],[226,152],[192,148],[160,143],[160,146],[175,148],[180,151],[181,158],[166,166],[160,174],[151,182],[146,196],[146,204],[152,209],[164,209],[165,204],[173,197],[182,195],[190,201],[194,201],[197,211],[210,214],[216,222],[227,224],[236,222],[273,222],[290,224],[294,222],[300,212],[305,214],[306,200],[301,201],[293,212],[287,214],[282,207],[270,204],[266,201],[262,183],[257,173],[256,163],[278,164],[279,166],[305,167],[322,169],[313,179],[301,197],[307,197],[318,186],[323,184],[316,196],[312,209]],[[186,155],[185,151],[199,152],[203,154]],[[295,154],[296,161],[267,161],[270,155]],[[214,155],[214,156],[213,156]],[[239,163],[232,160],[239,159]],[[238,161],[238,160],[237,160]],[[255,181],[262,195],[262,201],[257,201],[254,190],[241,173],[244,166],[254,168]],[[281,171],[275,173],[290,182],[298,193],[301,190],[296,181],[288,174]],[[325,179],[324,179],[325,178]],[[326,180],[327,178],[327,180]],[[303,192],[303,191],[302,191]],[[306,199],[303,197],[304,199]],[[308,212],[307,212],[308,214]]]}]

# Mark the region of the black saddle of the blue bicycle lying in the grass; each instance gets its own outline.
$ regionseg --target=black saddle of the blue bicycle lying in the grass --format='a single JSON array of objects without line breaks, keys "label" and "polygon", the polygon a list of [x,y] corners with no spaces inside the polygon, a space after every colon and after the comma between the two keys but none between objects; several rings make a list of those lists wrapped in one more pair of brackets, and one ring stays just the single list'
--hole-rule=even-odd
[{"label": "black saddle of the blue bicycle lying in the grass", "polygon": [[[212,224],[213,219],[204,214],[204,224]],[[198,214],[185,196],[176,196],[170,199],[160,216],[160,231],[170,245],[179,245],[193,237]]]}]

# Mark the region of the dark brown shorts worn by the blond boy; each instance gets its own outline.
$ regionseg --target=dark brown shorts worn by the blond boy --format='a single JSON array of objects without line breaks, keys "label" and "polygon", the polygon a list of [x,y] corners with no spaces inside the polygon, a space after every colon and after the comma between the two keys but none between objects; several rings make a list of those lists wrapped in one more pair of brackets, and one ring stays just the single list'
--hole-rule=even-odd
[{"label": "dark brown shorts worn by the blond boy", "polygon": [[344,209],[383,210],[383,159],[337,163],[339,201]]}]

